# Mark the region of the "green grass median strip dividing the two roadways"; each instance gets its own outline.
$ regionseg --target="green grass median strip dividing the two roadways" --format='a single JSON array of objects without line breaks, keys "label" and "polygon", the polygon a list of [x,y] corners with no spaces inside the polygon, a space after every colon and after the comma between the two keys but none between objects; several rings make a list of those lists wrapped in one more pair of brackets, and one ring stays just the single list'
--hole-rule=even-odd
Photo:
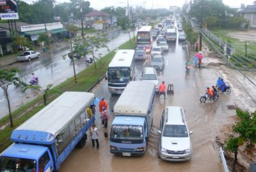
[{"label": "green grass median strip dividing the two roadways", "polygon": [[[125,42],[124,44],[120,45],[119,49],[134,49],[134,47],[135,42],[132,39],[131,43],[129,41]],[[99,81],[100,78],[102,78],[104,74],[106,74],[108,65],[114,56],[115,51],[111,51],[106,54],[106,56],[104,56],[102,59],[96,62],[96,69],[94,68],[94,65],[90,65],[86,67],[83,71],[79,72],[79,74],[77,74],[77,83],[74,82],[74,77],[70,77],[66,81],[56,86],[50,91],[49,97],[47,97],[47,103],[49,104],[50,102],[52,102],[52,100],[60,96],[61,93],[65,91],[88,91],[96,82]],[[13,125],[15,127],[5,127],[5,129],[1,130],[0,152],[2,152],[4,149],[12,144],[12,141],[10,141],[12,131],[45,107],[42,102],[43,98],[42,95],[40,95],[36,97],[35,100],[32,100],[31,102],[24,104],[24,106],[19,107],[19,109],[17,109],[16,111],[13,111]],[[3,125],[8,121],[9,116],[5,116],[4,118],[1,118],[0,124]]]}]

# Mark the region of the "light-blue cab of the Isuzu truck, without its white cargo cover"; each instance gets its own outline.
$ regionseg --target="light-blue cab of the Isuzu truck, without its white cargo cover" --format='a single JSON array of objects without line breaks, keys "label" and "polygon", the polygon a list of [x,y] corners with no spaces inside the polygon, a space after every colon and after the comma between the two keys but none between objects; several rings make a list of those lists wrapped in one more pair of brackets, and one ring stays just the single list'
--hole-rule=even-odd
[{"label": "light-blue cab of the Isuzu truck, without its white cargo cover", "polygon": [[110,134],[110,152],[116,155],[134,156],[146,152],[147,120],[141,116],[116,116]]}]

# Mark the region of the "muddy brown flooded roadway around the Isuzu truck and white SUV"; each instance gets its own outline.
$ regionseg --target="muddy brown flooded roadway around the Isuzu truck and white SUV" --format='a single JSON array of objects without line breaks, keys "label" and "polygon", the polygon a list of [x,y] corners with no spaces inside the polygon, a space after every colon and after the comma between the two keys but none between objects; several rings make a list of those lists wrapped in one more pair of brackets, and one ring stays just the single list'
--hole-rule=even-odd
[{"label": "muddy brown flooded roadway around the Isuzu truck and white SUV", "polygon": [[[154,100],[154,121],[148,141],[148,150],[141,157],[121,157],[109,152],[108,139],[104,138],[106,129],[100,123],[99,109],[97,109],[95,124],[99,130],[100,148],[92,148],[90,136],[83,149],[75,149],[61,165],[61,172],[68,171],[223,171],[218,153],[220,147],[215,139],[223,124],[231,122],[230,116],[236,111],[228,106],[256,107],[255,102],[248,99],[248,94],[241,84],[225,66],[207,65],[204,68],[191,66],[189,73],[185,71],[187,56],[179,42],[169,44],[170,51],[164,53],[165,68],[159,72],[159,81],[165,81],[166,86],[173,84],[174,93],[168,94],[164,100],[156,95]],[[211,60],[205,57],[204,61]],[[136,62],[136,80],[143,71],[143,67],[149,66],[148,62]],[[218,77],[224,77],[230,84],[232,93],[226,95],[220,93],[218,102],[200,103],[199,98],[205,94],[206,86],[216,84]],[[109,103],[111,116],[108,125],[110,133],[111,121],[115,118],[113,106],[118,100],[117,95],[110,95],[108,82],[102,81],[94,90],[96,97],[105,97]],[[166,162],[158,158],[159,135],[157,129],[161,114],[166,106],[181,106],[184,108],[189,129],[194,133],[191,137],[192,158],[188,162]]]}]

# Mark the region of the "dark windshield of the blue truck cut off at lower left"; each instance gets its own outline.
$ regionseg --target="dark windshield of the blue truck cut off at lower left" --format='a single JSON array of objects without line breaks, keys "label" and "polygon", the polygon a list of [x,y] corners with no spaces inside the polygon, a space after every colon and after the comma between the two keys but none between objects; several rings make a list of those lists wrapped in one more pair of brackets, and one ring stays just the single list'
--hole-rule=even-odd
[{"label": "dark windshield of the blue truck cut off at lower left", "polygon": [[15,157],[1,157],[0,171],[36,171],[36,160]]}]

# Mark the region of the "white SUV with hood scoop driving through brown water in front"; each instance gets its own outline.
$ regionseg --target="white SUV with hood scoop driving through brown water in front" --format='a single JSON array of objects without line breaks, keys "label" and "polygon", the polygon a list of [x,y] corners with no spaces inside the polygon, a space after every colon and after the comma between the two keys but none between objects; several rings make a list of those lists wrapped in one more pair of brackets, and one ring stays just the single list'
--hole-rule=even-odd
[{"label": "white SUV with hood scoop driving through brown water in front", "polygon": [[168,161],[191,159],[192,146],[184,109],[178,106],[166,107],[160,120],[159,158]]}]

